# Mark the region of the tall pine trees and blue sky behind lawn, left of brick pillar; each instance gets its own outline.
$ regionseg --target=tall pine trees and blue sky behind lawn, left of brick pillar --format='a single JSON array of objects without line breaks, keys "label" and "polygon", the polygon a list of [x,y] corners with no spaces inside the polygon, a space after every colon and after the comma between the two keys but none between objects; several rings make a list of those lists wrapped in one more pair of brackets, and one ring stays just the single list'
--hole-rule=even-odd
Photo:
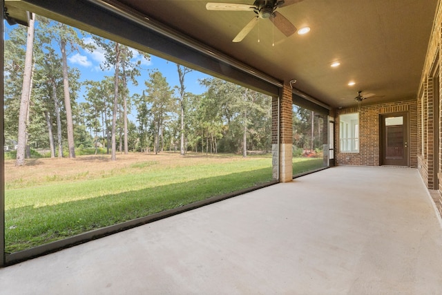
[{"label": "tall pine trees and blue sky behind lawn, left of brick pillar", "polygon": [[[79,147],[119,151],[240,153],[271,150],[271,97],[216,77],[201,79],[203,93],[187,91],[191,68],[176,65],[177,84],[151,58],[133,48],[75,28],[37,19],[32,71],[26,74],[28,32],[8,29],[5,41],[5,137],[19,141],[23,87],[29,111],[23,115],[25,145],[49,149],[51,157],[75,157]],[[87,41],[86,41],[87,40]],[[92,40],[92,41],[91,41]],[[104,78],[84,79],[70,55],[101,50]],[[109,75],[107,75],[109,74]],[[23,77],[30,77],[23,86]],[[171,75],[171,74],[168,74]],[[195,83],[195,82],[193,82]],[[142,91],[134,86],[144,86]],[[21,140],[23,141],[23,140]],[[17,153],[18,154],[18,153]]]}]

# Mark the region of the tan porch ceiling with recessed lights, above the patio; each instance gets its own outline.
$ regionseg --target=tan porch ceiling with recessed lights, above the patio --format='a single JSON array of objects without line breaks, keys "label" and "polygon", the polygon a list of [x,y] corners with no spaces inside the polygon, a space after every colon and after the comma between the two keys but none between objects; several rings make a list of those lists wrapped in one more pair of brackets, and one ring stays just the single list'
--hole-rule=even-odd
[{"label": "tan porch ceiling with recessed lights, above the patio", "polygon": [[[255,16],[253,11],[207,10],[205,0],[86,2],[121,4],[280,82],[296,80],[292,85],[299,91],[334,108],[356,106],[358,91],[373,95],[363,104],[416,99],[437,0],[286,1],[276,11],[296,28],[309,26],[307,35],[287,37],[271,20],[259,19],[240,42],[232,39]],[[78,2],[73,13],[81,13]],[[28,8],[22,3],[6,1],[6,6]],[[332,68],[334,61],[340,66]]]}]

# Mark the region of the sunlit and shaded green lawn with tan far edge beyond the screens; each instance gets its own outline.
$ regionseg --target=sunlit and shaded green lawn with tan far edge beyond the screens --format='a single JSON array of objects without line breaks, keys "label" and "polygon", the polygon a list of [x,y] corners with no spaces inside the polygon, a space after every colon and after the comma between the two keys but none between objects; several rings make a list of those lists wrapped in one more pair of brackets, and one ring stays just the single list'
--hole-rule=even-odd
[{"label": "sunlit and shaded green lawn with tan far edge beyond the screens", "polygon": [[5,170],[8,253],[272,180],[271,156],[84,156]]}]

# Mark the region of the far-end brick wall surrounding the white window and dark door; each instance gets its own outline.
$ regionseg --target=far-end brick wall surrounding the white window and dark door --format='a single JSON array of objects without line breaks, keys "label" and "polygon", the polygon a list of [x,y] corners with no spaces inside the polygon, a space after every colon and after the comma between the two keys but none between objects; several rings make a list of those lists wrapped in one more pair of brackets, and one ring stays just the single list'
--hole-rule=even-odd
[{"label": "far-end brick wall surrounding the white window and dark door", "polygon": [[[339,115],[359,112],[359,153],[340,153],[339,146]],[[336,165],[366,165],[379,166],[380,162],[380,126],[379,115],[388,113],[407,112],[409,120],[409,151],[410,167],[417,167],[417,104],[416,100],[391,102],[385,104],[361,105],[358,110],[343,108],[336,111],[335,149]]]}]

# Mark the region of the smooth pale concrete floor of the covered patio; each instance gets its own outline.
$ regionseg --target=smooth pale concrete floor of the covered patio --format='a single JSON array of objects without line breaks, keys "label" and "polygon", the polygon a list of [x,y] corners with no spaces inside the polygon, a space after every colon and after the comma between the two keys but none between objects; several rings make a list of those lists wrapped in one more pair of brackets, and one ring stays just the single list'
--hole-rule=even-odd
[{"label": "smooth pale concrete floor of the covered patio", "polygon": [[0,294],[442,294],[416,169],[338,166],[0,269]]}]

